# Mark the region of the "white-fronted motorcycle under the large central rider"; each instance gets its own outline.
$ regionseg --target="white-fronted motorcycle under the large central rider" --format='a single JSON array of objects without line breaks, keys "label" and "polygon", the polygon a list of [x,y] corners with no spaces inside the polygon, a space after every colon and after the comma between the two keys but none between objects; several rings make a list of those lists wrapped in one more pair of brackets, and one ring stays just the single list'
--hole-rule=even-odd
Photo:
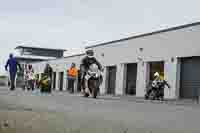
[{"label": "white-fronted motorcycle under the large central rider", "polygon": [[[98,69],[98,66],[96,64],[92,64],[88,70],[88,74],[90,75],[90,78],[88,80],[88,88],[89,91],[92,93],[92,97],[96,98],[97,94],[99,92],[99,87],[102,83],[103,77],[101,75],[101,71]],[[89,97],[88,92],[84,92],[85,97]]]}]

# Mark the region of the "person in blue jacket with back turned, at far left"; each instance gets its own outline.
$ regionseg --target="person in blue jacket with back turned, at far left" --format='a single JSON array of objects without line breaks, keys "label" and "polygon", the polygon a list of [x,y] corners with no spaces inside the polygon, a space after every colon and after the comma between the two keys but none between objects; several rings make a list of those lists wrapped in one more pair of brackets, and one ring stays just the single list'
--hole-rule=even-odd
[{"label": "person in blue jacket with back turned, at far left", "polygon": [[21,70],[21,66],[17,62],[16,58],[13,57],[13,54],[10,54],[9,59],[7,60],[7,63],[5,66],[6,71],[8,71],[8,67],[9,67],[10,85],[11,85],[10,90],[15,89],[15,78],[16,78],[16,74],[17,74],[17,66]]}]

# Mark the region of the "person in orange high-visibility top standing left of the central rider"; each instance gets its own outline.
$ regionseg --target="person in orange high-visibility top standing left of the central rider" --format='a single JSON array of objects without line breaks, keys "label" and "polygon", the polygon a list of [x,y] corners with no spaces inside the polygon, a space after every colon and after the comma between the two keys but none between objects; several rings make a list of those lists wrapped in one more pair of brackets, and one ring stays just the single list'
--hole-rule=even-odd
[{"label": "person in orange high-visibility top standing left of the central rider", "polygon": [[72,63],[71,68],[68,70],[68,90],[70,93],[74,92],[74,82],[78,76],[78,69],[76,68],[76,64]]}]

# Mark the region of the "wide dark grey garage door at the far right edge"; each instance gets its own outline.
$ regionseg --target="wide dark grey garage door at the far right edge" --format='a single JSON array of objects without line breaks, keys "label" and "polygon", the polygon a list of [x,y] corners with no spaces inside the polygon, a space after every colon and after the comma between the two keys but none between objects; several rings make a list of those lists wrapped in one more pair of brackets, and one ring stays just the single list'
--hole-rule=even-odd
[{"label": "wide dark grey garage door at the far right edge", "polygon": [[200,89],[200,57],[181,59],[181,98],[192,98],[195,89]]}]

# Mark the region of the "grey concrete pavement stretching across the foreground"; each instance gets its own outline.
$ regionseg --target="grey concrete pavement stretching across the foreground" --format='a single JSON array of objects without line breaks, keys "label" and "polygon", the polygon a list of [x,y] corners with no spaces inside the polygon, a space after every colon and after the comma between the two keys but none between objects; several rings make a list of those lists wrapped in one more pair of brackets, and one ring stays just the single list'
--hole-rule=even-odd
[{"label": "grey concrete pavement stretching across the foreground", "polygon": [[[20,133],[199,133],[199,114],[197,105],[0,90],[0,120],[10,120],[13,132]],[[7,133],[8,129],[1,130]]]}]

